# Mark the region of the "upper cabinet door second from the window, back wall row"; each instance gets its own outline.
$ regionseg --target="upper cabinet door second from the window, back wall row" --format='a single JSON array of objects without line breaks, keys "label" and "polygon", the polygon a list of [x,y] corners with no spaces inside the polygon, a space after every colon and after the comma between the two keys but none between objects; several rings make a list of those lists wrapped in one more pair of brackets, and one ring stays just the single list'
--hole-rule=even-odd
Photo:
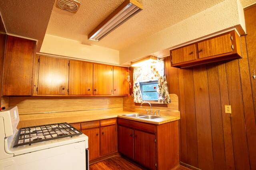
[{"label": "upper cabinet door second from the window, back wall row", "polygon": [[93,64],[93,89],[94,95],[112,94],[113,66]]}]

